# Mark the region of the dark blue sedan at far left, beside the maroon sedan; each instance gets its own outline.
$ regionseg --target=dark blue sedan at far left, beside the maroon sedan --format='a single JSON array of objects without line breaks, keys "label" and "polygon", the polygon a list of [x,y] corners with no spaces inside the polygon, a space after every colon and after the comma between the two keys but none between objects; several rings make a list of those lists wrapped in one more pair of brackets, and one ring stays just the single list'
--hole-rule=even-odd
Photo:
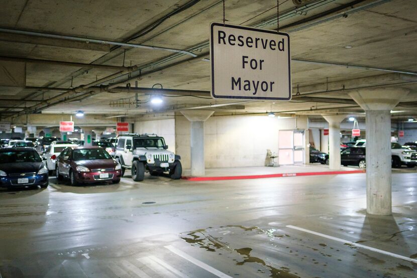
[{"label": "dark blue sedan at far left, beside the maroon sedan", "polygon": [[33,148],[0,149],[0,187],[48,186],[48,168]]}]

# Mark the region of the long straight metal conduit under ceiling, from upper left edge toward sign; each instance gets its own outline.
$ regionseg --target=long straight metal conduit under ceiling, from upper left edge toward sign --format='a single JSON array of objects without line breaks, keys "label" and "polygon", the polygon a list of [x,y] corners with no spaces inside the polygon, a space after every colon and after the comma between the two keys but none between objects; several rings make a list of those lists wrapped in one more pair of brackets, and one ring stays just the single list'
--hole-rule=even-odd
[{"label": "long straight metal conduit under ceiling, from upper left edge toward sign", "polygon": [[109,45],[126,46],[126,47],[133,47],[133,48],[164,50],[164,51],[169,51],[169,52],[179,52],[179,53],[189,55],[189,56],[192,56],[192,57],[197,56],[194,53],[191,53],[191,52],[186,51],[186,50],[175,49],[175,48],[167,48],[167,47],[159,47],[159,46],[121,43],[121,42],[116,42],[116,41],[90,39],[90,38],[74,37],[74,36],[67,36],[67,35],[57,35],[57,34],[50,34],[50,33],[41,33],[41,32],[33,32],[33,31],[26,31],[26,30],[10,29],[10,28],[0,28],[0,32],[11,33],[11,34],[19,34],[19,35],[37,36],[37,37],[44,37],[44,38],[78,41],[78,42],[85,42],[87,44],[88,43],[109,44]]}]

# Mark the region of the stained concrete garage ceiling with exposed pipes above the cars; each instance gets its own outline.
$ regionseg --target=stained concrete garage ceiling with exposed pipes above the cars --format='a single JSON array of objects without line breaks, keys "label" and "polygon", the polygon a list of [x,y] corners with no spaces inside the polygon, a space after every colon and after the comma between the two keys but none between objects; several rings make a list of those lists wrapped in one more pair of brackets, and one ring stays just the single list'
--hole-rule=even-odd
[{"label": "stained concrete garage ceiling with exposed pipes above the cars", "polygon": [[[216,107],[216,113],[360,113],[363,110],[350,103],[349,89],[390,86],[411,91],[395,108],[401,111],[396,116],[417,116],[417,6],[412,1],[312,0],[298,8],[290,0],[279,3],[280,30],[291,36],[293,100],[235,103]],[[164,50],[0,32],[0,56],[120,67],[91,68],[24,60],[27,88],[0,87],[3,118],[12,116],[13,121],[17,113],[71,114],[76,110],[104,117],[136,117],[234,102],[211,99],[208,93],[209,24],[222,21],[222,1],[15,0],[2,2],[1,8],[0,28],[181,49],[197,55],[193,58]],[[276,1],[226,0],[226,20],[230,24],[276,29]],[[4,60],[0,57],[0,63]],[[132,71],[128,73],[126,69]],[[117,78],[106,78],[122,70],[125,71]],[[95,91],[78,88],[65,93],[61,89],[30,88],[69,90],[103,78],[103,82],[94,84]],[[149,91],[139,93],[138,105],[133,91],[97,91],[98,86],[112,84],[118,88],[127,84],[135,87],[135,81],[140,88],[160,83],[164,89],[180,91],[169,96],[163,93],[160,107],[150,104]],[[181,90],[202,92],[183,96]],[[31,108],[33,105],[36,106]]]}]

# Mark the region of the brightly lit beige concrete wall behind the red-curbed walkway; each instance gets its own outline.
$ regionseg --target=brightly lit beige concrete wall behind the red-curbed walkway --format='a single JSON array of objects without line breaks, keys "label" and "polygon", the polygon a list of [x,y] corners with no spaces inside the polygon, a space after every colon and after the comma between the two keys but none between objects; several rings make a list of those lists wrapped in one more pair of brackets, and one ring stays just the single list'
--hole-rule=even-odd
[{"label": "brightly lit beige concrete wall behind the red-curbed walkway", "polygon": [[[278,152],[278,130],[295,128],[307,128],[306,120],[264,115],[211,116],[204,123],[205,167],[264,166],[267,149]],[[189,169],[190,122],[184,116],[175,116],[175,133],[177,154],[183,168]]]}]

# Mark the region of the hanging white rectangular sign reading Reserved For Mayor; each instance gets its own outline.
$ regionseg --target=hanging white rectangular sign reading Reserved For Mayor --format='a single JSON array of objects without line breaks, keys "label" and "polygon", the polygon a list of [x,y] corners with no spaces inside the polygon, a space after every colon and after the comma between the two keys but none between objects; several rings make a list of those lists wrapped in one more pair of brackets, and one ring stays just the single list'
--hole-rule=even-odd
[{"label": "hanging white rectangular sign reading Reserved For Mayor", "polygon": [[212,23],[212,97],[291,99],[289,35]]}]

